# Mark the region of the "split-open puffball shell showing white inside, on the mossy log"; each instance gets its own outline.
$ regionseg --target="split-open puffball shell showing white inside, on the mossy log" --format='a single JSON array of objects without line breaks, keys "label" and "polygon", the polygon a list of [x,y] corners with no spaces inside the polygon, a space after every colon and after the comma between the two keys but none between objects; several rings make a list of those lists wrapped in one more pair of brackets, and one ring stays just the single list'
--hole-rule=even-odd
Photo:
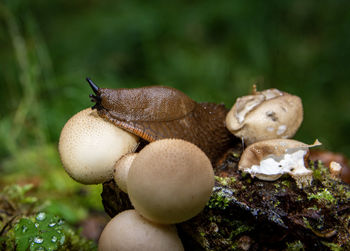
[{"label": "split-open puffball shell showing white inside, on the mossy log", "polygon": [[289,174],[299,187],[311,184],[312,170],[305,161],[309,147],[318,146],[291,139],[272,139],[256,142],[244,150],[238,169],[261,180],[274,181]]}]

